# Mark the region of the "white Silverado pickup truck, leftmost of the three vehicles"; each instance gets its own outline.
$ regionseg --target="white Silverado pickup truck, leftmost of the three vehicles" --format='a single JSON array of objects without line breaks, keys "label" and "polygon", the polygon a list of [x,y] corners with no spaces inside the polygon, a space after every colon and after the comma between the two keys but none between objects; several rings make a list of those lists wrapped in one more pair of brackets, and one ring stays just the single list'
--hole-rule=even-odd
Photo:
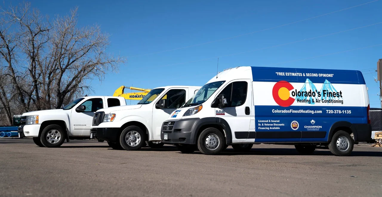
[{"label": "white Silverado pickup truck, leftmost of the three vehicles", "polygon": [[123,97],[89,96],[74,100],[62,109],[23,113],[25,125],[19,132],[33,137],[40,147],[59,147],[66,139],[90,139],[90,128],[95,111],[126,105]]}]

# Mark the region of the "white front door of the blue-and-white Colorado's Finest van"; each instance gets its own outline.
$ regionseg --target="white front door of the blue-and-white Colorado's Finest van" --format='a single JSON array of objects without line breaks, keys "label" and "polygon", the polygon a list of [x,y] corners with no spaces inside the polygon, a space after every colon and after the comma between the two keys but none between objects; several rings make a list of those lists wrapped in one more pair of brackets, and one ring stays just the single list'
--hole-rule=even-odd
[{"label": "white front door of the blue-and-white Colorado's Finest van", "polygon": [[215,108],[215,116],[227,121],[233,141],[248,138],[252,109],[251,90],[251,80],[238,79],[227,84],[218,95],[225,95],[227,107]]}]

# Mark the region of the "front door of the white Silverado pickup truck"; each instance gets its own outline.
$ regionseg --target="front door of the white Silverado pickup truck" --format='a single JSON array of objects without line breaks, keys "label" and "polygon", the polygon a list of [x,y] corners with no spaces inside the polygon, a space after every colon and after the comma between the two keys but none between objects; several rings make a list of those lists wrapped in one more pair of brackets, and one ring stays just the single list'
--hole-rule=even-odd
[{"label": "front door of the white Silverado pickup truck", "polygon": [[91,98],[78,106],[80,105],[84,105],[86,109],[83,112],[77,112],[75,108],[72,109],[70,132],[72,136],[90,136],[90,127],[92,126],[94,113],[104,108],[105,102],[102,98]]}]

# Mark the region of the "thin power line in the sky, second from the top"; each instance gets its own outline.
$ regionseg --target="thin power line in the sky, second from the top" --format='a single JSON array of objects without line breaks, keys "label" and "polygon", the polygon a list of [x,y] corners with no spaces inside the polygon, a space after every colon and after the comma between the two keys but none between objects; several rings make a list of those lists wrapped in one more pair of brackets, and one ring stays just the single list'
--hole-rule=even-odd
[{"label": "thin power line in the sky, second from the top", "polygon": [[[231,54],[222,55],[222,56],[219,56],[219,57],[227,57],[227,56],[232,56],[232,55],[239,55],[239,54],[242,54],[242,53],[248,53],[248,52],[254,52],[254,51],[258,51],[258,50],[264,50],[264,49],[273,48],[273,47],[280,47],[280,46],[283,46],[283,45],[294,44],[294,43],[297,43],[297,42],[303,42],[303,41],[306,41],[306,40],[312,40],[312,39],[321,38],[321,37],[325,37],[325,36],[331,36],[331,35],[334,35],[334,34],[339,34],[339,33],[346,32],[346,31],[352,31],[352,30],[355,30],[355,29],[361,29],[361,28],[364,28],[364,27],[369,27],[369,26],[373,26],[373,25],[381,24],[381,23],[382,22],[374,23],[374,24],[369,24],[369,25],[366,25],[366,26],[356,27],[356,28],[353,28],[353,29],[347,29],[347,30],[344,30],[344,31],[339,31],[339,32],[331,33],[331,34],[325,34],[325,35],[322,35],[322,36],[316,36],[316,37],[312,37],[312,38],[308,38],[308,39],[303,39],[303,40],[298,40],[298,41],[293,41],[293,42],[287,42],[287,43],[284,43],[284,44],[273,45],[273,46],[270,46],[270,47],[257,48],[257,49],[253,49],[253,50],[249,50],[249,51],[244,51],[244,52],[231,53]],[[210,60],[210,59],[215,59],[215,58],[219,58],[219,57],[204,58],[204,59],[201,59],[201,60],[194,60],[194,61],[187,61],[187,62],[181,62],[181,63],[175,63],[175,64],[168,64],[168,65],[164,65],[164,66],[173,66],[173,65],[179,65],[179,64],[194,63],[194,62],[197,62],[197,61]]]}]

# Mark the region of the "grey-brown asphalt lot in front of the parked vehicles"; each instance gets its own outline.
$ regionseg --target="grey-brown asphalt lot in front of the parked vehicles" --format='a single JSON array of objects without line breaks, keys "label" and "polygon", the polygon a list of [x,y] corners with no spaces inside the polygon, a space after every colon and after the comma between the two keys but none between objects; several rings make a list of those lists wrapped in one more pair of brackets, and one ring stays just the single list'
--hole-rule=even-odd
[{"label": "grey-brown asphalt lot in front of the parked vehicles", "polygon": [[220,155],[174,146],[113,150],[71,140],[60,148],[0,139],[0,196],[381,196],[382,147],[355,145],[350,157],[293,146],[231,147]]}]

